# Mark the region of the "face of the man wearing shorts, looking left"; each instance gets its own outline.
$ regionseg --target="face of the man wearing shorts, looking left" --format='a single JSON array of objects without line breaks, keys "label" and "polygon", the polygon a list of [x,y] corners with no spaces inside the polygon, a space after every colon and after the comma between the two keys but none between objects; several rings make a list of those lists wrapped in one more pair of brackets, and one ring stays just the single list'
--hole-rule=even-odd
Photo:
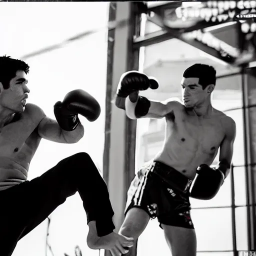
[{"label": "face of the man wearing shorts, looking left", "polygon": [[[198,83],[198,77],[188,77],[181,79],[182,100],[185,107],[196,107],[203,104],[206,97],[209,96],[211,88],[208,85],[202,89]],[[210,90],[209,90],[210,89]]]}]

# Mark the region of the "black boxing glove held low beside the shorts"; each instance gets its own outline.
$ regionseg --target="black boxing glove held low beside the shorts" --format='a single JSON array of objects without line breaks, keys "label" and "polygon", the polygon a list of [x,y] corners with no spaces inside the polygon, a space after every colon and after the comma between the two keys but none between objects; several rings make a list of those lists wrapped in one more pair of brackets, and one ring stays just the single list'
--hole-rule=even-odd
[{"label": "black boxing glove held low beside the shorts", "polygon": [[211,168],[207,164],[199,165],[190,187],[190,197],[201,200],[212,199],[223,184],[224,178],[221,170]]}]

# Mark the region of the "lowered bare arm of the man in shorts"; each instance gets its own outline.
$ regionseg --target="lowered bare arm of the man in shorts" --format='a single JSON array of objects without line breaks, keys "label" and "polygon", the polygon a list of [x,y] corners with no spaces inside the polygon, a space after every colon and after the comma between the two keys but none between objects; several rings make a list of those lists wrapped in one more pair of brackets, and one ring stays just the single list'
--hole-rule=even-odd
[{"label": "lowered bare arm of the man in shorts", "polygon": [[220,144],[219,163],[215,167],[221,170],[226,177],[230,171],[230,165],[233,156],[233,143],[236,135],[236,126],[232,118],[227,117],[225,120],[225,136]]}]

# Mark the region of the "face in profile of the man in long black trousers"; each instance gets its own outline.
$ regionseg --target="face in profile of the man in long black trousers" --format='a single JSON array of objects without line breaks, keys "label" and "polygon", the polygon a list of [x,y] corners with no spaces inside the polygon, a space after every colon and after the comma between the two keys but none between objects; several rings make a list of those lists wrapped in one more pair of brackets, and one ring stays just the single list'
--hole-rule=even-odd
[{"label": "face in profile of the man in long black trousers", "polygon": [[25,108],[29,89],[26,86],[26,74],[22,70],[16,72],[16,76],[9,82],[9,88],[3,89],[0,83],[0,108],[10,112],[22,112]]}]

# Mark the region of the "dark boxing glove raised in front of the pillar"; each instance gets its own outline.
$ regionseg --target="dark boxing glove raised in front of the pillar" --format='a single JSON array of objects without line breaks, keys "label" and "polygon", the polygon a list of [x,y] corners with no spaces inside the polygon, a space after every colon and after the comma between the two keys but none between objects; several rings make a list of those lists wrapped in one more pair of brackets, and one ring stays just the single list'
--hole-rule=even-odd
[{"label": "dark boxing glove raised in front of the pillar", "polygon": [[116,94],[118,97],[126,98],[132,92],[146,90],[148,88],[158,88],[158,82],[156,79],[148,77],[136,70],[131,70],[121,75]]}]

